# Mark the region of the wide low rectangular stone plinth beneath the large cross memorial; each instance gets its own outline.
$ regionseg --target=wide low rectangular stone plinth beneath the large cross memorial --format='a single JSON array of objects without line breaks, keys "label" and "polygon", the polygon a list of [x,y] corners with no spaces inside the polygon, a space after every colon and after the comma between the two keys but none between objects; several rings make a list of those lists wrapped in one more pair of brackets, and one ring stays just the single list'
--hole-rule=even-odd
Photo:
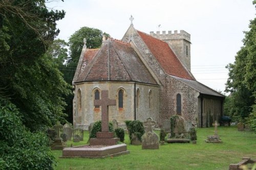
[{"label": "wide low rectangular stone plinth beneath the large cross memorial", "polygon": [[123,154],[129,154],[126,144],[116,144],[112,146],[97,146],[90,147],[90,145],[83,145],[79,147],[65,148],[62,150],[62,156],[60,158],[104,158],[109,156],[118,156]]}]

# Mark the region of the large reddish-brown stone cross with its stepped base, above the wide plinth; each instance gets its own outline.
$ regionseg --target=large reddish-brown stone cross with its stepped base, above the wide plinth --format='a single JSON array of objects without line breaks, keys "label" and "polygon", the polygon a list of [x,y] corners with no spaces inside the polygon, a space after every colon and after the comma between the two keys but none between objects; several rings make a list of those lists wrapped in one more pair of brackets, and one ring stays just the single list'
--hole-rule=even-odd
[{"label": "large reddish-brown stone cross with its stepped base, above the wide plinth", "polygon": [[90,145],[114,145],[119,138],[114,138],[114,132],[109,132],[109,106],[115,106],[116,100],[109,99],[109,91],[101,91],[101,100],[94,100],[95,106],[101,106],[101,132],[96,138],[90,139]]}]

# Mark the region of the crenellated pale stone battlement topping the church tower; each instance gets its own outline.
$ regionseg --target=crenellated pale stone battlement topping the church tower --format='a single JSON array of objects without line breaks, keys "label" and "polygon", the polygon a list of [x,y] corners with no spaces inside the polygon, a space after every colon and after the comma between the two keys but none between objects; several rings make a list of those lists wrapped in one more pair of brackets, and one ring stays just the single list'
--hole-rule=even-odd
[{"label": "crenellated pale stone battlement topping the church tower", "polygon": [[180,33],[178,33],[177,30],[175,30],[174,33],[172,33],[172,31],[168,31],[167,34],[165,31],[162,31],[162,34],[160,34],[160,31],[157,31],[156,33],[154,33],[154,31],[151,31],[150,35],[161,40],[185,39],[190,42],[190,34],[185,32],[184,30],[180,30]]}]

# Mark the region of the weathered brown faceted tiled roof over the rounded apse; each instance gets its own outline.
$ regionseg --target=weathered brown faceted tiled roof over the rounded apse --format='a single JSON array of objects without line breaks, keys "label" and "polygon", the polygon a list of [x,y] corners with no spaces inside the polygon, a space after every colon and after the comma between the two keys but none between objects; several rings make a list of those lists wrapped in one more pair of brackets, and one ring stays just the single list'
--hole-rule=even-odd
[{"label": "weathered brown faceted tiled roof over the rounded apse", "polygon": [[86,50],[75,83],[92,81],[134,81],[157,85],[131,44],[114,39],[106,40],[100,50]]}]

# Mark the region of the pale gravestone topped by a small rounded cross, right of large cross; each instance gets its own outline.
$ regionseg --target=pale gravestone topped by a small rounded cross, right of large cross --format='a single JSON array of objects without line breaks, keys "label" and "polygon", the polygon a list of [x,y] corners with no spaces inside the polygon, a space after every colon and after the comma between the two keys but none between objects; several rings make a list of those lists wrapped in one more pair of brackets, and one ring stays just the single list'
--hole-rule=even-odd
[{"label": "pale gravestone topped by a small rounded cross, right of large cross", "polygon": [[143,126],[145,127],[145,133],[141,137],[142,149],[159,149],[159,137],[153,131],[156,122],[148,117]]}]

